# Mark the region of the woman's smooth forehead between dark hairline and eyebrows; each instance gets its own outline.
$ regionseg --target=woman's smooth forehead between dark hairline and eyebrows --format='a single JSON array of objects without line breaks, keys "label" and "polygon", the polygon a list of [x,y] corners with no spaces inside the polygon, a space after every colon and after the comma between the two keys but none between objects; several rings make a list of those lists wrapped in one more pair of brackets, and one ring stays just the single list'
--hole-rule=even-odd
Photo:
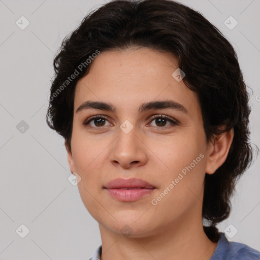
[{"label": "woman's smooth forehead between dark hairline and eyebrows", "polygon": [[177,69],[171,53],[148,48],[101,52],[77,82],[74,112],[88,100],[109,102],[125,112],[145,102],[173,100],[199,114],[197,94],[172,76]]}]

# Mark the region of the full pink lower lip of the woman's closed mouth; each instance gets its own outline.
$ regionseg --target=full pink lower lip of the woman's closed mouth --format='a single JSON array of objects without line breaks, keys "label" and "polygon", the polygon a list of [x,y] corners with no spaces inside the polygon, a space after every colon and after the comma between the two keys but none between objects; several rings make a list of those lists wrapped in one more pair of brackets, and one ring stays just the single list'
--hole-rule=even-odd
[{"label": "full pink lower lip of the woman's closed mouth", "polygon": [[153,189],[106,189],[108,193],[118,201],[137,201],[142,197],[148,196],[153,192]]}]

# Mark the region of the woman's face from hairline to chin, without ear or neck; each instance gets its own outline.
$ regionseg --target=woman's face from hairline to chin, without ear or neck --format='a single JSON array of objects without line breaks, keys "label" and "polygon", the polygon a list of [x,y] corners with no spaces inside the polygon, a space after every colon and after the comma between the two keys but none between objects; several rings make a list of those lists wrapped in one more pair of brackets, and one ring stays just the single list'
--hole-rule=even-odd
[{"label": "woman's face from hairline to chin, without ear or neck", "polygon": [[[172,76],[177,68],[169,53],[106,51],[77,83],[68,160],[86,209],[111,232],[142,237],[201,217],[208,145],[197,94]],[[153,189],[114,197],[105,187],[117,178]]]}]

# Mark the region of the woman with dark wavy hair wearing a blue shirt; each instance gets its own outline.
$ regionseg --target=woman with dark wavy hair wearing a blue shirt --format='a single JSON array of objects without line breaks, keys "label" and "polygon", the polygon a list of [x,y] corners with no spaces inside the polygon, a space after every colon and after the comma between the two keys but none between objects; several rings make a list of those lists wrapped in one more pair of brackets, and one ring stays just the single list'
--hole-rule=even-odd
[{"label": "woman with dark wavy hair wearing a blue shirt", "polygon": [[54,68],[47,122],[99,222],[91,260],[259,259],[215,226],[252,148],[236,52],[208,20],[173,1],[112,1]]}]

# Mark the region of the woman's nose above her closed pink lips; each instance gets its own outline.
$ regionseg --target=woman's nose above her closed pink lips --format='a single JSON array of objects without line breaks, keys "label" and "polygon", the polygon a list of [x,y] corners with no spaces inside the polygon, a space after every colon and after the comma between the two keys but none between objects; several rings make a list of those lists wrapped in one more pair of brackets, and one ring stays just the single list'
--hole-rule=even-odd
[{"label": "woman's nose above her closed pink lips", "polygon": [[118,137],[111,146],[109,159],[116,167],[133,168],[147,163],[147,148],[135,127],[129,133],[118,130]]}]

